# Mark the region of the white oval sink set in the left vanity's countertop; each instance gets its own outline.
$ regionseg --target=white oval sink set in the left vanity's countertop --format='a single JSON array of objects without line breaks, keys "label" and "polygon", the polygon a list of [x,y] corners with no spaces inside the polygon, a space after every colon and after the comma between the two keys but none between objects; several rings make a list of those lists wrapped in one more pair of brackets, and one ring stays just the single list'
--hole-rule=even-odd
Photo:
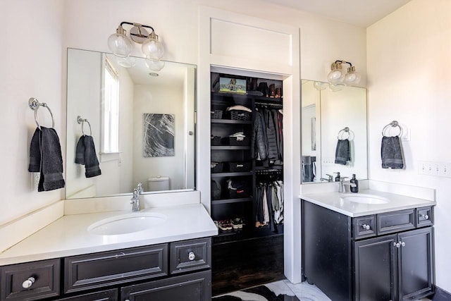
[{"label": "white oval sink set in the left vanity's countertop", "polygon": [[164,214],[136,212],[96,221],[87,228],[87,231],[97,235],[121,235],[144,231],[165,221]]}]

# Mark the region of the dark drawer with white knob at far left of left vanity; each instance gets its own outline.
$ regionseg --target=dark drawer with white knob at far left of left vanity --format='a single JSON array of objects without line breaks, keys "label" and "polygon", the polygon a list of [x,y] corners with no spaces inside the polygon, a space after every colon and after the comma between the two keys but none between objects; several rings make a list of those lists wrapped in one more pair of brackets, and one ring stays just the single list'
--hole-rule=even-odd
[{"label": "dark drawer with white knob at far left of left vanity", "polygon": [[[0,266],[0,300],[39,300],[59,295],[60,260]],[[30,285],[29,288],[24,288]]]}]

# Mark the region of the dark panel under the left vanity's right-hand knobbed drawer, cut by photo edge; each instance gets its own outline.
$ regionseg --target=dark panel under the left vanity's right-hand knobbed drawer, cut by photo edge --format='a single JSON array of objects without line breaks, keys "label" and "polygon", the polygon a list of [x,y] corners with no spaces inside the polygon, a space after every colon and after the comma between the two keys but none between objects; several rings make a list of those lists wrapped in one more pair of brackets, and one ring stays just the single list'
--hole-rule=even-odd
[{"label": "dark panel under the left vanity's right-hand knobbed drawer, cut by photo edge", "polygon": [[121,289],[121,300],[210,301],[211,271],[202,271],[159,281],[130,285]]}]

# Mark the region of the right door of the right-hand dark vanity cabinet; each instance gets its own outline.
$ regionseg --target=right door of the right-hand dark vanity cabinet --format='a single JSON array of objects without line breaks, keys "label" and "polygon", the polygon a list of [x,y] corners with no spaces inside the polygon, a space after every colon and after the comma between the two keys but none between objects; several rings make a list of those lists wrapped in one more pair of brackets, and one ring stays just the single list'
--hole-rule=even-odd
[{"label": "right door of the right-hand dark vanity cabinet", "polygon": [[433,228],[399,234],[400,300],[433,293]]}]

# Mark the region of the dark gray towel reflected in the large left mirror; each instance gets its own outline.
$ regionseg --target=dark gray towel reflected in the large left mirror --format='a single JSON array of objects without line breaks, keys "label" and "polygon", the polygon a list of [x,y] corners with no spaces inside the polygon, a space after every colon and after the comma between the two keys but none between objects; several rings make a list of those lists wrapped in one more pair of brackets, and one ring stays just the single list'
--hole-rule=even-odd
[{"label": "dark gray towel reflected in the large left mirror", "polygon": [[86,178],[101,175],[99,160],[97,159],[96,148],[92,136],[82,135],[75,150],[75,163],[85,165]]}]

